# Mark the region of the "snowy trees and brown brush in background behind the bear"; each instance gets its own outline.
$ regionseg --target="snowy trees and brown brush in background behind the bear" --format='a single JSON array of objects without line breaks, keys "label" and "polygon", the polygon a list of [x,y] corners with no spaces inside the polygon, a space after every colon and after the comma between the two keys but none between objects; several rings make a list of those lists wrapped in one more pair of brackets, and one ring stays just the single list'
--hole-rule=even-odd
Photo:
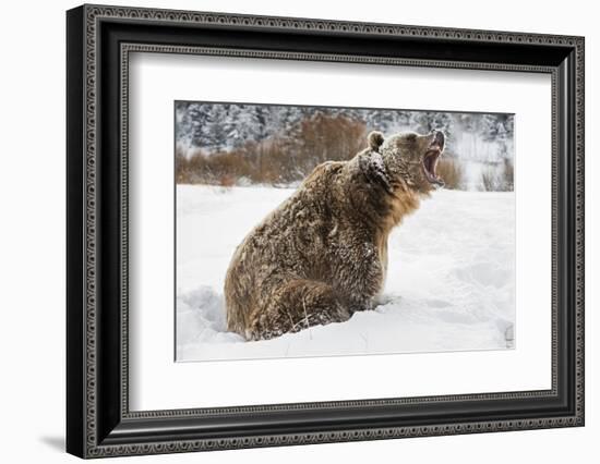
[{"label": "snowy trees and brown brush in background behind the bear", "polygon": [[[482,190],[513,188],[511,114],[183,101],[176,103],[176,179],[223,186],[295,184],[321,162],[353,157],[375,129],[443,130],[448,144],[439,170],[448,188],[464,184],[468,150],[459,135],[477,134],[494,148],[484,160],[491,168],[481,174]],[[477,156],[477,149],[470,151]]]}]

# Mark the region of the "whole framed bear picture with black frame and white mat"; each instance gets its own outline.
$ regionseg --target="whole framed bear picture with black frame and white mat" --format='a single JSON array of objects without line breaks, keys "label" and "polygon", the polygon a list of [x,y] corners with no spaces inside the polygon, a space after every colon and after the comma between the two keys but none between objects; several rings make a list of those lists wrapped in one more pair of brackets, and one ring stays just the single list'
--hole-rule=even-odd
[{"label": "whole framed bear picture with black frame and white mat", "polygon": [[70,453],[584,425],[584,38],[67,33]]}]

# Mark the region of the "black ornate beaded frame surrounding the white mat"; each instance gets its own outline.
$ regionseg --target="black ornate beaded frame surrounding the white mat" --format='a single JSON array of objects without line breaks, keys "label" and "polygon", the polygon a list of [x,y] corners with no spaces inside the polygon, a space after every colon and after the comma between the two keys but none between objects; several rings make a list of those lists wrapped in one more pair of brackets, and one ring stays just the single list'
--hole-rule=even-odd
[{"label": "black ornate beaded frame surrounding the white mat", "polygon": [[[584,38],[83,5],[67,14],[67,451],[169,453],[584,425]],[[552,389],[130,412],[128,57],[541,72],[553,83]]]}]

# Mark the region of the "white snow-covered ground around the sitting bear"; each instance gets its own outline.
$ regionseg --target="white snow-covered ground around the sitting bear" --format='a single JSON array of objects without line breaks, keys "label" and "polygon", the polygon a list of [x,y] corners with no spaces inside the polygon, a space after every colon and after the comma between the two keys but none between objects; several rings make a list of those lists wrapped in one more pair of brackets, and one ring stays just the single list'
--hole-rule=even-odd
[{"label": "white snow-covered ground around the sitting bear", "polygon": [[423,200],[389,237],[375,310],[268,341],[227,332],[223,283],[233,249],[291,192],[177,187],[177,361],[513,347],[512,192],[439,191]]}]

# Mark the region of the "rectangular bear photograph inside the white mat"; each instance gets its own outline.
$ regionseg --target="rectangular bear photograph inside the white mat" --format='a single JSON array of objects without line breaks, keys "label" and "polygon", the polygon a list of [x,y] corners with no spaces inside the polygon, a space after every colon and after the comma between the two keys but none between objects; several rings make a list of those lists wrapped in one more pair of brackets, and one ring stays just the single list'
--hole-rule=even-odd
[{"label": "rectangular bear photograph inside the white mat", "polygon": [[515,114],[173,120],[177,362],[515,349]]}]

